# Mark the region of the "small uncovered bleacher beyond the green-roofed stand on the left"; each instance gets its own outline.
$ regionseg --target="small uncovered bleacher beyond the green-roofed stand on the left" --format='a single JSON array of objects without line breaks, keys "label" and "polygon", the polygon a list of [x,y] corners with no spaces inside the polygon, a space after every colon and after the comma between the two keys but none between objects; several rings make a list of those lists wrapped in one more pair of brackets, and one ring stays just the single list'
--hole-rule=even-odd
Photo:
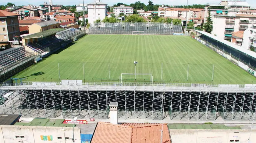
[{"label": "small uncovered bleacher beyond the green-roofed stand on the left", "polygon": [[66,30],[63,30],[61,32],[56,33],[56,37],[62,40],[74,38],[76,36],[81,35],[81,31],[76,28],[68,28]]}]

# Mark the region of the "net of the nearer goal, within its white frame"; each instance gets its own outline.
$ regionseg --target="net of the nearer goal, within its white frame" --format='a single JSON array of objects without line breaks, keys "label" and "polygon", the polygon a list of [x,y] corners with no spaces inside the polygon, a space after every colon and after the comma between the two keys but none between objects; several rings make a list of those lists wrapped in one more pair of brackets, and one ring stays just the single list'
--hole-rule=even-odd
[{"label": "net of the nearer goal, within its white frame", "polygon": [[152,74],[126,74],[122,73],[120,75],[120,82],[153,82]]}]

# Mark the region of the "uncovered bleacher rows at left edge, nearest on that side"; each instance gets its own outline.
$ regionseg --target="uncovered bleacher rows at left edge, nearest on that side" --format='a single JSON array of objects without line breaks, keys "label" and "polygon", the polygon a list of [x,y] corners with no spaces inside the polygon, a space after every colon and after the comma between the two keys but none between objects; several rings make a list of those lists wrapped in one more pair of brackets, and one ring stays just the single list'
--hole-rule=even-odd
[{"label": "uncovered bleacher rows at left edge, nearest on that side", "polygon": [[33,55],[33,53],[26,51],[24,47],[16,48],[10,52],[6,52],[0,55],[0,69],[2,70],[7,68]]}]

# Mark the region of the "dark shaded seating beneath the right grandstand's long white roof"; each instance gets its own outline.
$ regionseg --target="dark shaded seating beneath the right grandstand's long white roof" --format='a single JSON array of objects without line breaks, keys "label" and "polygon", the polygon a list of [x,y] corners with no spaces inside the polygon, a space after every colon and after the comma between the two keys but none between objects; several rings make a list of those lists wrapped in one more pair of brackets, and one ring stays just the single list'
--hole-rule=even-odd
[{"label": "dark shaded seating beneath the right grandstand's long white roof", "polygon": [[209,38],[206,35],[201,35],[199,36],[199,38],[203,39],[205,42],[212,43],[213,46],[218,47],[221,50],[224,50],[224,52],[231,54],[232,57],[235,57],[236,59],[243,61],[243,63],[247,63],[247,64],[250,63],[250,67],[254,67],[254,68],[256,67],[256,60],[254,58],[250,58],[248,55],[244,54],[243,52],[240,52],[235,48],[229,47],[226,44],[223,44],[212,38]]}]

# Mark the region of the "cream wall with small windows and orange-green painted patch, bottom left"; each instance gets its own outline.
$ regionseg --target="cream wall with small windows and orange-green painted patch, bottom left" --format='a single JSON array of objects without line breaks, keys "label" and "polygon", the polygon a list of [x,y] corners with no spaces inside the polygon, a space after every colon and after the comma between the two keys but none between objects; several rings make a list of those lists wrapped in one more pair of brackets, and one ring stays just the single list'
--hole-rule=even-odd
[{"label": "cream wall with small windows and orange-green painted patch, bottom left", "polygon": [[[1,143],[73,143],[71,138],[73,138],[73,127],[0,125]],[[74,138],[76,142],[81,141],[80,128],[74,128]]]}]

